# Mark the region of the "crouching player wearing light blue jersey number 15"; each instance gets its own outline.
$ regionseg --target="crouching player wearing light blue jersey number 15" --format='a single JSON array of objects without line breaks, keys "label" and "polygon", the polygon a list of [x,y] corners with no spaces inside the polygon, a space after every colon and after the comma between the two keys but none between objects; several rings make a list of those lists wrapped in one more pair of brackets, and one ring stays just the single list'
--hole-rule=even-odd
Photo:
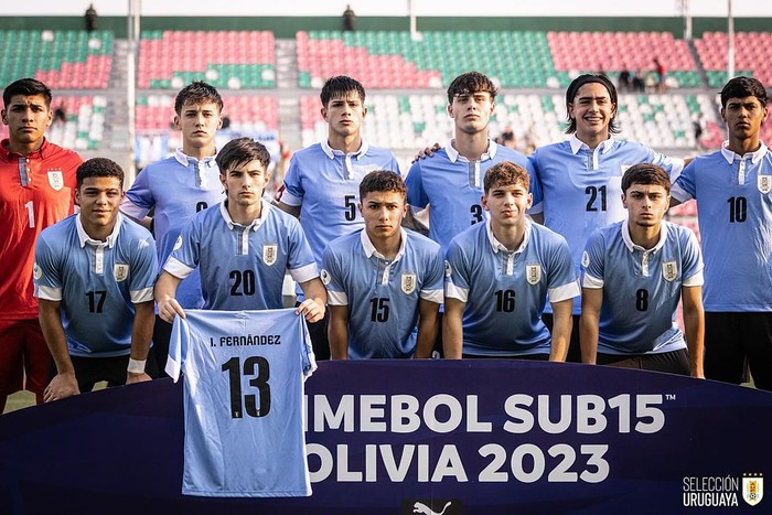
[{"label": "crouching player wearing light blue jersey number 15", "polygon": [[398,173],[365,175],[358,206],[365,228],[324,250],[333,360],[431,357],[444,262],[438,244],[400,227],[405,194]]}]

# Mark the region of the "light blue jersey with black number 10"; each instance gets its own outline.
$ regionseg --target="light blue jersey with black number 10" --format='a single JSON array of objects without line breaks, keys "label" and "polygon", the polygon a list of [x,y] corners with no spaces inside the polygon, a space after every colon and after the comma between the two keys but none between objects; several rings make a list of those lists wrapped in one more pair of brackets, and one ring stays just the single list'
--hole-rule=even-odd
[{"label": "light blue jersey with black number 10", "polygon": [[705,311],[772,311],[772,152],[726,148],[689,163],[673,186],[697,200]]}]

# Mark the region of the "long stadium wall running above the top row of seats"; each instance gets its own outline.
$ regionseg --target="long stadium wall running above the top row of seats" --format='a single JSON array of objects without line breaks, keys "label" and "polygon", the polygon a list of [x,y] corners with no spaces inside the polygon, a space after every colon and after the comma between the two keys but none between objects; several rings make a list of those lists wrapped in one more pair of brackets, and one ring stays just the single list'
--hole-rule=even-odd
[{"label": "long stadium wall running above the top row of seats", "polygon": [[[341,30],[340,17],[142,17],[142,30],[267,30],[276,37],[294,37],[304,30]],[[419,31],[667,31],[682,37],[683,18],[581,18],[581,17],[431,17],[418,18]],[[736,31],[766,32],[771,18],[736,18]],[[3,17],[0,30],[81,30],[83,17]],[[358,17],[357,30],[407,31],[406,17]],[[114,31],[117,37],[126,37],[127,20],[124,17],[99,17],[99,29]],[[693,34],[727,29],[723,18],[694,18]]]}]

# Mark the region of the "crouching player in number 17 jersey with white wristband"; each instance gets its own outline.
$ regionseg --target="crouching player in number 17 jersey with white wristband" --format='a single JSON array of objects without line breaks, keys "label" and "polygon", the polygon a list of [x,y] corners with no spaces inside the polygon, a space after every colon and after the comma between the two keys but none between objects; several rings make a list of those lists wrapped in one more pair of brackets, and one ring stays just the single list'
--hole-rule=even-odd
[{"label": "crouching player in number 17 jersey with white wristband", "polygon": [[120,167],[89,159],[77,169],[81,212],[37,239],[35,296],[56,364],[46,403],[90,391],[100,380],[150,380],[156,246],[144,227],[119,213],[122,199]]}]

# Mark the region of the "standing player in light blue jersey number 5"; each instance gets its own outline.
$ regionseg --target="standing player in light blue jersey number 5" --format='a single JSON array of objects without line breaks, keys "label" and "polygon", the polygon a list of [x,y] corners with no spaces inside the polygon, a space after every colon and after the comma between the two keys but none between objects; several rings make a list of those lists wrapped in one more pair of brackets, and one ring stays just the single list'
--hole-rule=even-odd
[{"label": "standing player in light blue jersey number 5", "polygon": [[[328,139],[292,155],[279,202],[281,210],[300,218],[319,268],[330,242],[364,226],[356,205],[365,174],[399,170],[392,152],[372,147],[362,138],[367,108],[365,89],[358,81],[343,75],[329,78],[320,98]],[[299,291],[298,301],[302,299]],[[309,331],[317,360],[329,360],[328,319],[309,324]]]}]

